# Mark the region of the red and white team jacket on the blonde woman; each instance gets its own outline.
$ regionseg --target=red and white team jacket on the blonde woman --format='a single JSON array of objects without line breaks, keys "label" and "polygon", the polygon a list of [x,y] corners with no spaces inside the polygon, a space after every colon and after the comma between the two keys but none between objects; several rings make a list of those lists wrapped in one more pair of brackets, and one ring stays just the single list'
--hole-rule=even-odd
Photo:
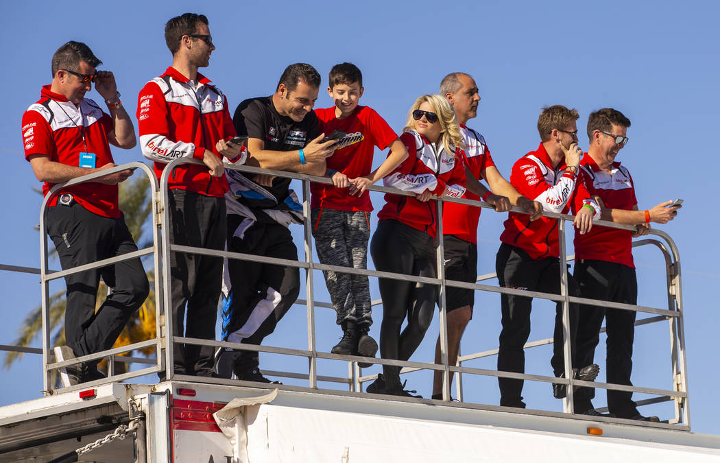
[{"label": "red and white team jacket on the blonde woman", "polygon": [[[417,194],[430,190],[438,196],[462,197],[466,179],[461,149],[451,147],[448,151],[414,130],[400,135],[400,141],[408,150],[408,158],[382,180],[385,186]],[[377,215],[379,220],[398,220],[435,238],[435,201],[420,202],[415,197],[387,193],[385,203]]]}]

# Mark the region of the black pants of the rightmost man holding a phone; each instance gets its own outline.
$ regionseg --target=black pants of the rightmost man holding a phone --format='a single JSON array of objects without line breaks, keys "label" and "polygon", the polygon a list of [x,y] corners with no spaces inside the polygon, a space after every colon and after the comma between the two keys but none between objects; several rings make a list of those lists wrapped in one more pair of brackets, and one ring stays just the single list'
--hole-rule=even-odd
[{"label": "black pants of the rightmost man holding a phone", "polygon": [[[582,297],[636,305],[637,278],[635,269],[623,264],[584,259],[575,264],[575,279]],[[593,363],[595,347],[600,341],[600,327],[606,320],[608,383],[631,386],[632,346],[635,337],[635,315],[631,310],[611,309],[596,305],[580,306],[577,328],[577,361]],[[608,410],[620,418],[638,413],[632,392],[608,390]],[[575,393],[575,407],[590,408],[595,390],[582,387]]]}]

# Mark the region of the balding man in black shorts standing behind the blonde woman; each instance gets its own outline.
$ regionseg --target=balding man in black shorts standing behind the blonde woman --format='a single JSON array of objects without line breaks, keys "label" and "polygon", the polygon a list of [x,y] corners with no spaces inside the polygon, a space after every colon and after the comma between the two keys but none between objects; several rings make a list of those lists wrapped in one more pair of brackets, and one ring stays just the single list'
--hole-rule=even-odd
[{"label": "balding man in black shorts standing behind the blonde woman", "polygon": [[[495,205],[497,212],[507,212],[511,204],[522,207],[535,220],[542,214],[542,204],[527,199],[505,180],[490,156],[485,138],[467,127],[467,121],[477,116],[480,90],[472,76],[466,73],[449,73],[440,83],[440,94],[452,104],[460,123],[462,140],[467,145],[463,162],[467,174],[467,190],[464,197]],[[485,179],[487,189],[478,179]],[[492,191],[491,191],[492,190]],[[498,194],[493,194],[497,192]],[[445,276],[460,282],[474,283],[477,279],[477,225],[480,207],[444,203],[443,240],[445,251]],[[472,318],[474,291],[448,287],[446,292],[448,326],[448,361],[454,365],[460,347],[460,338]],[[440,363],[440,337],[436,343],[435,361]],[[436,371],[433,380],[433,399],[442,398],[442,372]],[[450,372],[450,379],[453,374]]]}]

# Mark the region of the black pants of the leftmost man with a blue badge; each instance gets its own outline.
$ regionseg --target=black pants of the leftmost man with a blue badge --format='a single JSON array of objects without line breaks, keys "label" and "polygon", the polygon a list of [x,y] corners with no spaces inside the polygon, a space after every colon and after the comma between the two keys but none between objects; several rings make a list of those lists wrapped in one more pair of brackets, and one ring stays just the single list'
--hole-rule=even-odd
[{"label": "black pants of the leftmost man with a blue badge", "polygon": [[[63,269],[138,251],[122,217],[102,217],[76,202],[48,208],[48,235],[55,243]],[[100,277],[109,294],[95,310]],[[76,356],[112,348],[150,291],[140,259],[71,274],[65,282],[65,339]]]}]

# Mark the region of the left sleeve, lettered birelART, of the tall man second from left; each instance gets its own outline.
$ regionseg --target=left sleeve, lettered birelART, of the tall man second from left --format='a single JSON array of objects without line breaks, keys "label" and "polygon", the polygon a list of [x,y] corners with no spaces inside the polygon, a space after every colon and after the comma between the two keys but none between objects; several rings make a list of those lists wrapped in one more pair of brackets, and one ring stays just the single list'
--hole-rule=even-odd
[{"label": "left sleeve, lettered birelART, of the tall man second from left", "polygon": [[161,163],[168,163],[175,158],[202,160],[204,148],[169,138],[168,107],[155,81],[148,82],[140,91],[137,116],[140,149],[145,158]]}]

